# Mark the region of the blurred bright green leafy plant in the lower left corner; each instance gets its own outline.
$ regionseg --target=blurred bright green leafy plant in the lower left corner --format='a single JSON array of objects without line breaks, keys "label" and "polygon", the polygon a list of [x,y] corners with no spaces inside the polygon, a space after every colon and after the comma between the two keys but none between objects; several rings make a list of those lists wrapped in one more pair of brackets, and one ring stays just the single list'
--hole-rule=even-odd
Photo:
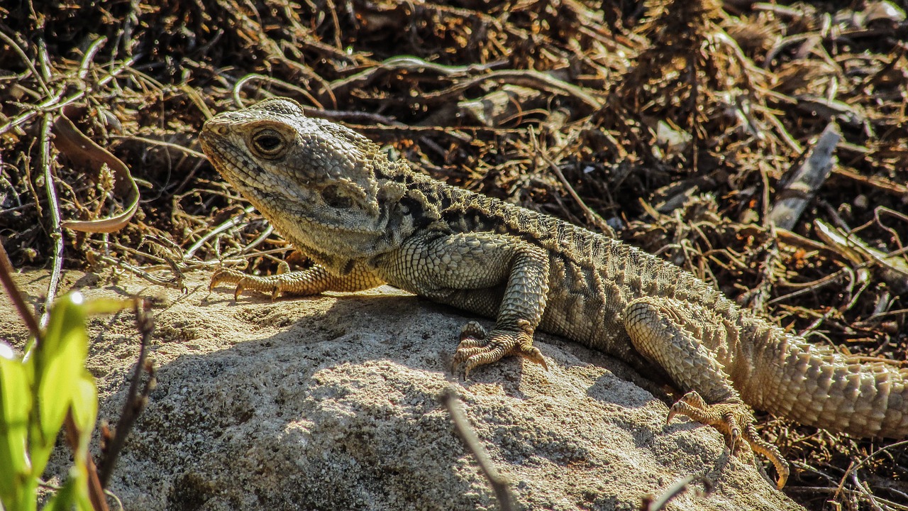
[{"label": "blurred bright green leafy plant in the lower left corner", "polygon": [[78,435],[75,462],[44,509],[92,511],[85,461],[98,401],[94,377],[85,370],[85,318],[134,304],[106,298],[85,301],[72,293],[54,302],[42,341],[27,361],[16,359],[12,349],[0,343],[0,511],[35,509],[38,477],[67,413]]}]

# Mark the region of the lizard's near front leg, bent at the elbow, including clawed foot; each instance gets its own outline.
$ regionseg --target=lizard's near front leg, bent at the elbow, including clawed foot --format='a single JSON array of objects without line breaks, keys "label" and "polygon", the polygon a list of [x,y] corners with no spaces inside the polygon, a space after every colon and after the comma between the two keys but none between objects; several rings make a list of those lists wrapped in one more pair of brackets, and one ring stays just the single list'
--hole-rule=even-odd
[{"label": "lizard's near front leg, bent at the elbow, including clawed foot", "polygon": [[486,334],[464,326],[452,370],[464,376],[502,356],[518,355],[546,366],[533,333],[548,298],[548,255],[537,245],[492,233],[414,236],[380,262],[388,281],[435,301],[496,316]]}]

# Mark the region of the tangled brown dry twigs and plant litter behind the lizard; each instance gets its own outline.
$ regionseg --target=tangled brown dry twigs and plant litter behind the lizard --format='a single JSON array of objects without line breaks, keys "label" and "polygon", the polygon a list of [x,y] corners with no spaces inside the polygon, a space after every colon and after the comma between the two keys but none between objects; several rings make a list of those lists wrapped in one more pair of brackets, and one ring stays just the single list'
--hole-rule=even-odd
[{"label": "tangled brown dry twigs and plant litter behind the lizard", "polygon": [[[119,265],[173,286],[219,259],[272,271],[288,247],[259,239],[262,219],[196,134],[212,112],[290,95],[452,184],[612,225],[814,342],[904,361],[897,5],[14,0],[0,5],[0,240],[18,267]],[[64,106],[142,199],[114,233],[63,230],[61,258],[55,215],[114,215],[125,195],[49,145]],[[774,229],[779,190],[830,122],[837,165],[795,225]],[[894,253],[894,269],[816,221]],[[804,506],[906,508],[904,446],[762,419]]]}]

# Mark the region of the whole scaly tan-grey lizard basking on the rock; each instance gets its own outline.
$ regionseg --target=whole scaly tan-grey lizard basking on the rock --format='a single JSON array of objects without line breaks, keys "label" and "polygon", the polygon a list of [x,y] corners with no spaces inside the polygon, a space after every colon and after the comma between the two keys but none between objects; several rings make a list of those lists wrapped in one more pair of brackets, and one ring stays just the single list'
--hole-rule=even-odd
[{"label": "whole scaly tan-grey lizard basking on the rock", "polygon": [[686,392],[669,408],[716,427],[732,452],[769,459],[781,489],[789,466],[755,429],[752,407],[853,436],[908,436],[908,369],[818,346],[739,307],[670,262],[613,237],[445,184],[390,160],[366,136],[271,98],[214,115],[202,150],[313,266],[272,276],[232,268],[210,289],[275,296],[390,284],[479,316],[452,358],[469,371],[503,356],[546,367],[536,329]]}]

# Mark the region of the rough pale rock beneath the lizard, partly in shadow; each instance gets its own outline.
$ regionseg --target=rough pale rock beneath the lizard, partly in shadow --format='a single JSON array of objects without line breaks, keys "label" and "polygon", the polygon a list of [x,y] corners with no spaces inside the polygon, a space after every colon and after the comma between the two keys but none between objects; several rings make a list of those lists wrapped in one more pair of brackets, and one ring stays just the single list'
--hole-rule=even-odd
[{"label": "rough pale rock beneath the lizard, partly in shadow", "polygon": [[[64,278],[87,296],[166,300],[154,312],[158,386],[111,485],[127,510],[497,509],[439,404],[449,386],[520,509],[637,509],[690,475],[708,476],[712,493],[695,484],[668,509],[802,509],[713,429],[664,426],[666,405],[632,383],[646,380],[582,346],[540,334],[548,371],[508,358],[462,382],[449,363],[471,317],[453,309],[388,287],[234,302],[226,288],[208,296],[207,274],[189,279],[181,296],[127,277]],[[37,301],[46,275],[17,281]],[[0,304],[0,332],[21,347],[24,328]],[[137,336],[131,314],[92,326],[90,369],[113,423]],[[68,463],[58,449],[51,482]]]}]

